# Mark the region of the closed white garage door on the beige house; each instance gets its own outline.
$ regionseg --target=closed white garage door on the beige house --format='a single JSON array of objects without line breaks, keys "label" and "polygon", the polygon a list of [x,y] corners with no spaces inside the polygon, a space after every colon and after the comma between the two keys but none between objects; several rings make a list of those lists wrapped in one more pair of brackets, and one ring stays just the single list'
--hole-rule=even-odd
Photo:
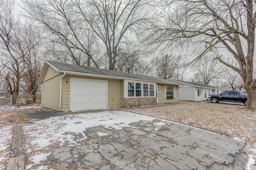
[{"label": "closed white garage door on the beige house", "polygon": [[107,108],[107,81],[70,79],[70,111]]}]

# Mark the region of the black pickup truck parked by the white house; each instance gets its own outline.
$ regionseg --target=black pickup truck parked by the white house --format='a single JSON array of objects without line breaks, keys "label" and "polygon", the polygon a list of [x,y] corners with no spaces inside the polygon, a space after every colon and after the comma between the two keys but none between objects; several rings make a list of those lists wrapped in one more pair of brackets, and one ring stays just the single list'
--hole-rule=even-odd
[{"label": "black pickup truck parked by the white house", "polygon": [[247,95],[240,95],[240,91],[224,91],[220,94],[211,94],[212,103],[218,103],[219,101],[232,101],[242,102],[247,104]]}]

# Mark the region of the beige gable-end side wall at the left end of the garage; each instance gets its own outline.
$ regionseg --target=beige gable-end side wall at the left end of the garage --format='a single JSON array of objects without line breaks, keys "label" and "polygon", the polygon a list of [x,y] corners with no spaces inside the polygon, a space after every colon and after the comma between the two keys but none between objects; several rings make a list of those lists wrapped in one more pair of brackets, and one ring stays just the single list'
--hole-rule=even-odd
[{"label": "beige gable-end side wall at the left end of the garage", "polygon": [[52,67],[48,67],[43,79],[42,105],[44,107],[62,111],[60,109],[60,77]]}]

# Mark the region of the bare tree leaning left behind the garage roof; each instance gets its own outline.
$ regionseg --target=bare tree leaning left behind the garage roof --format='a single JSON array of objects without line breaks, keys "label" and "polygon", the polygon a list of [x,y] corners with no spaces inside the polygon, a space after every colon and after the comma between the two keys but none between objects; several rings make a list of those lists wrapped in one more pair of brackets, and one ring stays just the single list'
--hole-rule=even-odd
[{"label": "bare tree leaning left behind the garage roof", "polygon": [[[99,67],[98,59],[94,55],[98,50],[96,34],[88,30],[88,23],[82,21],[79,14],[75,13],[74,4],[70,0],[23,0],[22,2],[23,9],[28,13],[27,16],[43,26],[47,32],[44,33],[47,39],[66,47],[65,51],[69,53],[72,62],[87,66],[92,62]],[[77,51],[84,54],[79,57],[85,58],[79,58]]]}]

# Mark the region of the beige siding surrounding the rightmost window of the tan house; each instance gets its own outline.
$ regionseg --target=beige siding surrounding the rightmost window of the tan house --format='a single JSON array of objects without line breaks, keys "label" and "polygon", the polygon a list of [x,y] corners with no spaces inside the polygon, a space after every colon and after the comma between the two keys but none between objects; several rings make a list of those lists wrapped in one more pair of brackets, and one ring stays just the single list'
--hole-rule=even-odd
[{"label": "beige siding surrounding the rightmost window of the tan house", "polygon": [[[160,87],[159,87],[160,85]],[[164,84],[158,84],[158,103],[175,103],[179,101],[179,87],[175,85],[168,85],[168,86],[174,86],[175,87],[175,97],[174,100],[166,100],[166,97],[164,97]],[[160,92],[160,93],[159,93]]]}]

